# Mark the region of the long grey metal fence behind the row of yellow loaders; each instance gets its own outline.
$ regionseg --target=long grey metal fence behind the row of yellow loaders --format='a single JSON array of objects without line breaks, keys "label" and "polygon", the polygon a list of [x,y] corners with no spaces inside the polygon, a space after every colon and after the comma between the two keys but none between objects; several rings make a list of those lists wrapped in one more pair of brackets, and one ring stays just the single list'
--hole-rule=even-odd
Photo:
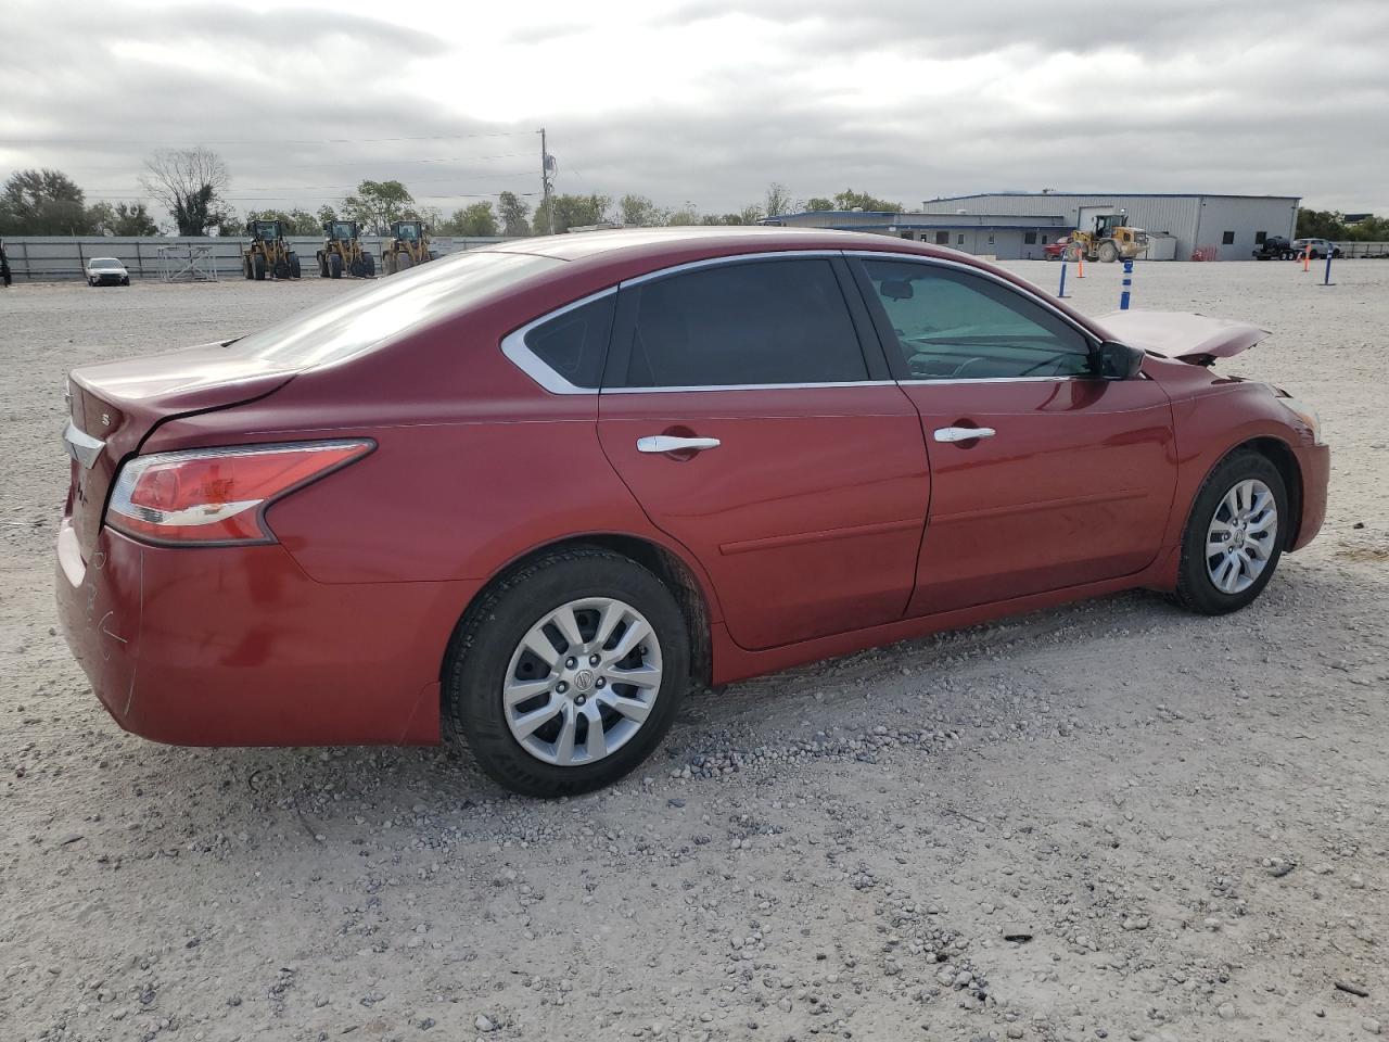
[{"label": "long grey metal fence behind the row of yellow loaders", "polygon": [[[364,235],[363,249],[381,265],[381,243],[378,235]],[[160,278],[160,246],[203,246],[210,251],[210,263],[218,278],[242,276],[242,247],[249,239],[238,236],[206,238],[117,238],[100,235],[57,236],[57,235],[15,235],[4,236],[6,260],[15,282],[65,282],[83,278],[86,263],[93,257],[115,257],[131,272],[132,279]],[[288,242],[299,254],[304,278],[317,278],[314,253],[322,249],[324,240],[317,235],[292,235]],[[506,238],[464,238],[439,236],[429,240],[429,247],[439,254],[475,250]]]}]

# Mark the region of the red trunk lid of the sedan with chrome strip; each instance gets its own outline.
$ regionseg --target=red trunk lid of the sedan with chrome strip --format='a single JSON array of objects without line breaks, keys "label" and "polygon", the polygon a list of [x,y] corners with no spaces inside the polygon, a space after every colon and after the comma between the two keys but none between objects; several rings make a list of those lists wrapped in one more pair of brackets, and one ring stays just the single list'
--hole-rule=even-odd
[{"label": "red trunk lid of the sedan with chrome strip", "polygon": [[72,457],[68,513],[82,560],[92,556],[121,461],[158,424],[264,397],[299,370],[246,357],[219,343],[126,361],[83,365],[68,375]]}]

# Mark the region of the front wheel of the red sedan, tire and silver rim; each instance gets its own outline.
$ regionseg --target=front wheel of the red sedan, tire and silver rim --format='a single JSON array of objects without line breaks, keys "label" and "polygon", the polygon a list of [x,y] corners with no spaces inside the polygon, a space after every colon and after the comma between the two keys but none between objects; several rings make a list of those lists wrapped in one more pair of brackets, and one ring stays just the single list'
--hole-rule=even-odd
[{"label": "front wheel of the red sedan, tire and silver rim", "polygon": [[1278,468],[1254,452],[1225,457],[1186,521],[1178,603],[1204,615],[1250,604],[1274,577],[1289,521],[1288,486]]}]

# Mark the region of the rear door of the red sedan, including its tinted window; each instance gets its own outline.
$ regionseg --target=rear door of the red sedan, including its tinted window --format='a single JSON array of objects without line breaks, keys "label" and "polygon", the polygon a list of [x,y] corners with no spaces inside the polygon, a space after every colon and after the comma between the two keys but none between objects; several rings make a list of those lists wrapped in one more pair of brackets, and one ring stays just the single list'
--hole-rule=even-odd
[{"label": "rear door of the red sedan, including its tinted window", "polygon": [[651,522],[708,572],[733,640],[900,618],[926,454],[843,258],[726,258],[618,296],[599,438]]}]

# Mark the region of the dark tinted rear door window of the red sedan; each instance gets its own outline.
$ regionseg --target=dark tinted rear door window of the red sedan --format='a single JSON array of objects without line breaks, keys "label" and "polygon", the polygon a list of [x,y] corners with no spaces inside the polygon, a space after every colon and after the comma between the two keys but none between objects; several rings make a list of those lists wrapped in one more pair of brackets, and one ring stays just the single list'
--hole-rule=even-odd
[{"label": "dark tinted rear door window of the red sedan", "polygon": [[733,388],[868,379],[828,260],[681,272],[638,293],[626,371],[614,386]]}]

